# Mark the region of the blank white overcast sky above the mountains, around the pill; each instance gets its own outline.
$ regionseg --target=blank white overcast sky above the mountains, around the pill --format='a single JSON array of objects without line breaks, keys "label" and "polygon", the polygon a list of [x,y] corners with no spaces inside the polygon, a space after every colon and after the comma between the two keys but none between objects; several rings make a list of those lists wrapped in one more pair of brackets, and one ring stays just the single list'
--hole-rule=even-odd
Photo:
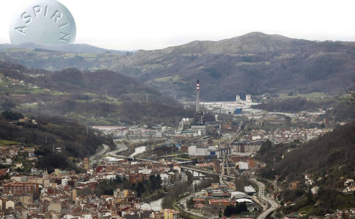
[{"label": "blank white overcast sky above the mountains, around the pill", "polygon": [[[252,31],[310,40],[355,41],[355,1],[58,0],[72,13],[76,43],[107,49],[162,49]],[[28,0],[0,0],[0,43]]]}]

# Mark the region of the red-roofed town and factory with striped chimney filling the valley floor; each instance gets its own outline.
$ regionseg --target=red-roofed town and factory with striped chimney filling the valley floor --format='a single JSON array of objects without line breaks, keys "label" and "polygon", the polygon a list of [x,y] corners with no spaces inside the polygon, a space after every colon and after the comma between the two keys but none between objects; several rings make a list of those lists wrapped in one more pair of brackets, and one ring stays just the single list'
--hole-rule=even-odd
[{"label": "red-roofed town and factory with striped chimney filling the valley floor", "polygon": [[[322,113],[253,109],[258,103],[251,95],[245,101],[237,95],[235,102],[200,104],[199,95],[197,80],[196,111],[192,118],[182,118],[178,127],[87,126],[87,132],[112,138],[116,149],[103,144],[91,157],[73,161],[76,170],[38,169],[43,157],[37,152],[43,146],[2,141],[0,217],[264,219],[274,217],[279,207],[295,204],[286,200],[285,190],[306,187],[311,195],[318,193],[312,174],[289,185],[262,179],[260,171],[267,165],[257,157],[269,144],[307,143],[331,132],[329,120],[317,120]],[[206,122],[205,110],[223,119]],[[22,127],[38,122],[23,117],[10,124]],[[53,145],[53,153],[62,153],[62,148]],[[339,190],[353,194],[355,181],[344,179]],[[285,219],[302,216],[304,212],[283,215]],[[323,217],[354,218],[355,208],[336,209]]]}]

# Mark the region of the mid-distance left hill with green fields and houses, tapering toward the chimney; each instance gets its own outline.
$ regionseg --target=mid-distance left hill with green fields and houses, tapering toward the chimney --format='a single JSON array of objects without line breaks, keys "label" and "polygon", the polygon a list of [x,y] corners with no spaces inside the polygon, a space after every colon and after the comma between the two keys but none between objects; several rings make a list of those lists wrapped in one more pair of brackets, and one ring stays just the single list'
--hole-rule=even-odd
[{"label": "mid-distance left hill with green fields and houses, tapering toward the chimney", "polygon": [[[65,116],[84,125],[176,125],[193,115],[193,109],[184,109],[173,98],[109,70],[51,72],[0,63],[0,76],[0,106],[26,115]],[[214,116],[207,114],[206,119],[213,121]]]}]

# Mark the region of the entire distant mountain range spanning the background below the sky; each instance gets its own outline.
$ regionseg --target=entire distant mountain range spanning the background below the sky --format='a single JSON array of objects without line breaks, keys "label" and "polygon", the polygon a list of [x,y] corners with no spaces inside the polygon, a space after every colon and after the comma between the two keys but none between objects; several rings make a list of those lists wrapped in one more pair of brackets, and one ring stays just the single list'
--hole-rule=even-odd
[{"label": "entire distant mountain range spanning the background below the sky", "polygon": [[[252,32],[160,50],[107,50],[87,44],[0,44],[0,60],[56,71],[113,70],[178,100],[234,100],[236,94],[342,94],[355,78],[354,42],[317,42]],[[99,77],[99,75],[98,75]]]}]

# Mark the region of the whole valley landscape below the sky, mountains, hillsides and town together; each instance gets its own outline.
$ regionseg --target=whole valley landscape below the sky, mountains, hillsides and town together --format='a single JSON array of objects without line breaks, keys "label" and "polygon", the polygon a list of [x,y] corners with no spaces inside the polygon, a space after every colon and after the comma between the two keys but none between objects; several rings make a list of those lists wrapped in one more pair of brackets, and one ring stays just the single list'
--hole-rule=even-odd
[{"label": "whole valley landscape below the sky, mountains, hillsides and town together", "polygon": [[1,44],[0,213],[351,219],[354,55],[260,32],[159,50]]}]

